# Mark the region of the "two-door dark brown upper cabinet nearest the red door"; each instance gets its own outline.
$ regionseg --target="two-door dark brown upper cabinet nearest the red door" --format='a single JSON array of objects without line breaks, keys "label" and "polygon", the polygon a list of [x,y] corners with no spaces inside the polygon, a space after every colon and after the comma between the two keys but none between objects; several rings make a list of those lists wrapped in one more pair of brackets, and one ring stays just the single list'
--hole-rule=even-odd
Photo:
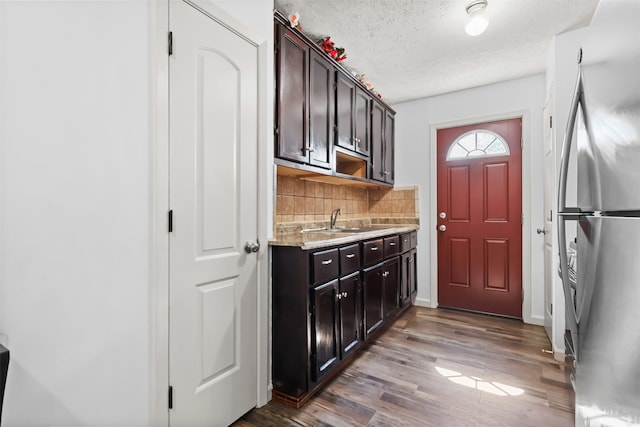
[{"label": "two-door dark brown upper cabinet nearest the red door", "polygon": [[371,107],[371,172],[369,178],[392,184],[394,166],[394,115],[378,102]]}]

